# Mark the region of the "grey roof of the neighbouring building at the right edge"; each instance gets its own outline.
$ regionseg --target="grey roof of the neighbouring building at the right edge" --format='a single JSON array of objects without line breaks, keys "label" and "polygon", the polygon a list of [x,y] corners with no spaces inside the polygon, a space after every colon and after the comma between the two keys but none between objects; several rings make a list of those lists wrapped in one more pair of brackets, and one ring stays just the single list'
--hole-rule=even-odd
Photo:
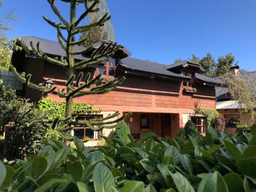
[{"label": "grey roof of the neighbouring building at the right edge", "polygon": [[[240,77],[244,79],[248,84],[250,93],[253,95],[256,95],[255,90],[253,90],[253,88],[256,88],[256,71],[240,74]],[[216,77],[214,79],[220,80],[220,77]],[[216,87],[216,99],[217,100],[231,99],[229,94],[229,89],[225,87]]]}]

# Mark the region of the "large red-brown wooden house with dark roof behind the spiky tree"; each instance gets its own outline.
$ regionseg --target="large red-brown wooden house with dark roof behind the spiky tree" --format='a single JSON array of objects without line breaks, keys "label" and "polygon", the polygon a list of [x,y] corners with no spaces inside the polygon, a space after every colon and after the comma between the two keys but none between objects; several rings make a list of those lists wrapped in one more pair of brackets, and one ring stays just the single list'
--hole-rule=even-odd
[{"label": "large red-brown wooden house with dark roof behind the spiky tree", "polygon": [[[49,56],[65,56],[57,41],[33,36],[22,37],[20,46],[24,48],[23,51],[14,52],[12,55],[12,63],[17,71],[31,73],[33,82],[41,83],[51,78],[54,86],[66,88],[65,71],[31,55],[25,47],[30,47],[30,41],[33,41],[34,45],[39,41],[41,50]],[[94,44],[94,47],[99,45]],[[77,46],[76,49],[84,48]],[[104,117],[116,111],[119,111],[120,115],[133,112],[133,115],[126,119],[126,123],[135,138],[146,132],[175,137],[188,119],[196,123],[199,131],[205,132],[205,118],[196,114],[195,108],[216,109],[215,86],[220,84],[220,81],[201,75],[204,69],[191,60],[162,65],[130,56],[129,50],[121,48],[113,58],[101,66],[93,66],[86,71],[94,75],[102,73],[108,78],[125,76],[126,80],[108,94],[74,99],[74,102],[93,103],[95,108],[102,109],[99,115],[84,114],[79,118]],[[87,58],[88,55],[75,57],[77,61]],[[28,87],[25,88],[25,97],[32,101],[44,99],[42,93]],[[65,101],[52,94],[49,97],[54,101]],[[109,136],[111,131],[103,130],[103,135]],[[89,136],[92,141],[98,137],[97,133],[87,127],[74,129],[74,135]]]}]

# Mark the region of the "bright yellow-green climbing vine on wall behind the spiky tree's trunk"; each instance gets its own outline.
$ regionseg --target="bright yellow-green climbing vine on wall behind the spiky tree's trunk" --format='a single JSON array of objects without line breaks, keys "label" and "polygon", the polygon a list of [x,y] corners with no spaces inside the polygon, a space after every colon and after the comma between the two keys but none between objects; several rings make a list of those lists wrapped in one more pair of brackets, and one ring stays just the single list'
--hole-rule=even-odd
[{"label": "bright yellow-green climbing vine on wall behind the spiky tree's trunk", "polygon": [[[84,115],[84,114],[98,114],[101,112],[101,109],[95,110],[93,109],[93,104],[87,103],[73,103],[72,106],[72,114],[76,115]],[[65,117],[65,107],[66,102],[56,102],[51,101],[50,98],[39,101],[37,107],[41,111],[48,111],[49,120],[53,120],[55,118],[64,118]]]}]

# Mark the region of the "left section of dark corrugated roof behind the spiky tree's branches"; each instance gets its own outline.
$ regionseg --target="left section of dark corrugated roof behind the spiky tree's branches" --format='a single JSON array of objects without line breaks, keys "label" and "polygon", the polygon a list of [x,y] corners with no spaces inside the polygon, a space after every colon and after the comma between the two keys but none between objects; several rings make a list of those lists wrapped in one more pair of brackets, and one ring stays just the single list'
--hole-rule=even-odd
[{"label": "left section of dark corrugated roof behind the spiky tree's branches", "polygon": [[[28,37],[22,37],[22,41],[21,41],[21,45],[26,45],[29,48],[30,46],[30,42],[33,41],[33,46],[36,48],[36,44],[37,42],[40,42],[40,49],[42,52],[49,54],[49,55],[54,55],[54,56],[66,56],[66,52],[65,50],[62,49],[62,47],[60,46],[58,41],[53,41],[53,40],[48,40],[48,39],[43,39],[43,38],[39,38],[39,37],[34,37],[34,36],[28,36]],[[106,42],[107,44],[110,41]],[[97,48],[102,44],[102,42],[96,42],[96,44],[93,44],[93,47]],[[25,49],[25,47],[23,46],[23,48]],[[81,46],[75,46],[75,51],[82,51],[85,50],[86,48],[81,47]],[[125,48],[121,48],[124,51],[126,51],[129,55],[131,55],[131,53],[125,49]],[[25,51],[28,51],[25,49]],[[78,60],[84,60],[87,59],[88,57],[86,55],[83,54],[79,54],[79,55],[75,55],[75,59]]]}]

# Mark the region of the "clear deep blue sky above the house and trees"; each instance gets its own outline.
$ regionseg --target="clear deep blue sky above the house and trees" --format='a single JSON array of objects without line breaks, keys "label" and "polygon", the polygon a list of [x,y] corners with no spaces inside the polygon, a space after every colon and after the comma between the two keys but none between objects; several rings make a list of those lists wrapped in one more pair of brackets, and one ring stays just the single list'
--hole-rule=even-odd
[{"label": "clear deep blue sky above the house and trees", "polygon": [[[60,2],[56,0],[56,2]],[[107,0],[115,40],[132,57],[169,64],[191,54],[216,59],[233,53],[241,68],[256,70],[255,0]],[[57,3],[61,12],[69,10]],[[8,37],[56,40],[42,15],[56,20],[46,0],[5,0],[2,12],[15,8],[19,20]],[[82,8],[82,7],[81,7]],[[79,9],[79,11],[81,11]]]}]

